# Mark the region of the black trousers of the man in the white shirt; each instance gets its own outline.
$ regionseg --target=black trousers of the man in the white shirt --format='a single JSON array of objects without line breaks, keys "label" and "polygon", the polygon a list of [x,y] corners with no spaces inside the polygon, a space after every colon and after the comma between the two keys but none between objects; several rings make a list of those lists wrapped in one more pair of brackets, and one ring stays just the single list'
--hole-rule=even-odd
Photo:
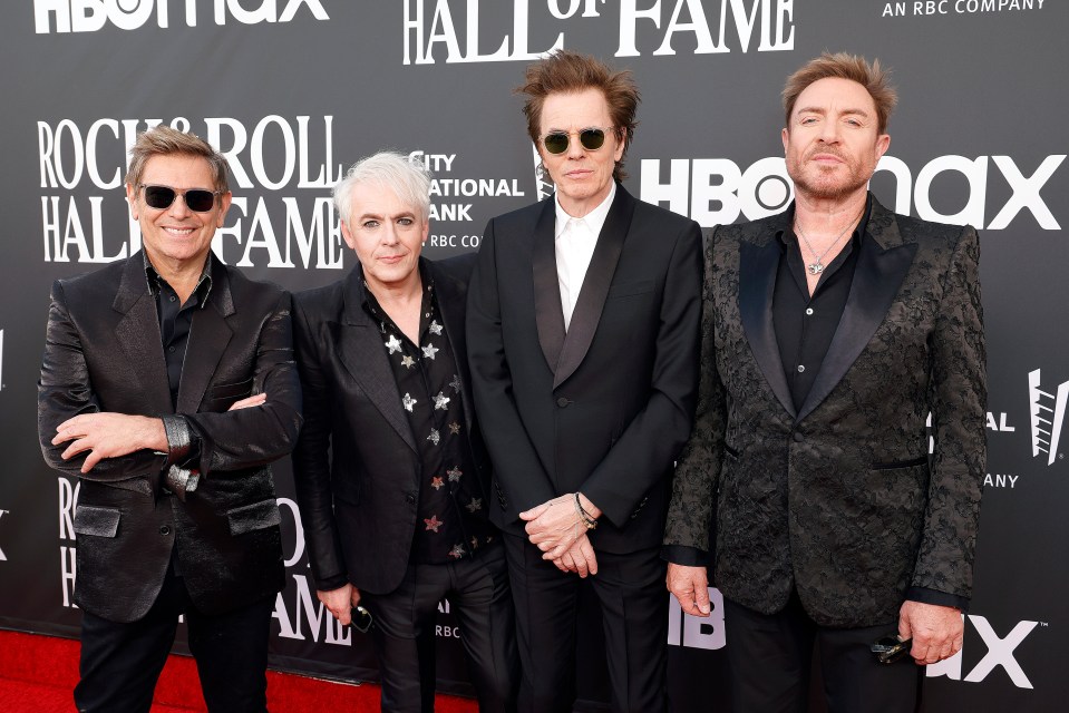
[{"label": "black trousers of the man in the white shirt", "polygon": [[668,593],[660,549],[595,551],[597,574],[581,579],[542,559],[526,538],[504,537],[523,664],[519,710],[571,713],[576,606],[580,587],[591,586],[601,604],[613,711],[665,711]]}]

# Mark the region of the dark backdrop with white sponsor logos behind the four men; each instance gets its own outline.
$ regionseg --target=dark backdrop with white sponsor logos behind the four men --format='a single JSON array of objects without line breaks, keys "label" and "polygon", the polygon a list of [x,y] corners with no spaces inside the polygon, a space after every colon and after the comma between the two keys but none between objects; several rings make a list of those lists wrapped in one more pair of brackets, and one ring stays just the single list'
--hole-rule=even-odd
[{"label": "dark backdrop with white sponsor logos behind the four men", "polygon": [[[21,0],[0,17],[0,626],[78,633],[78,482],[41,460],[37,379],[51,282],[139,246],[122,185],[138,131],[165,123],[223,150],[234,203],[216,255],[300,290],[353,265],[329,189],[377,149],[434,172],[431,257],[477,250],[487,218],[542,198],[512,90],[557,48],[634,71],[633,194],[707,228],[779,212],[791,197],[783,80],[824,49],[848,50],[893,67],[901,92],[873,191],[982,236],[990,472],[976,590],[962,653],[927,670],[925,710],[1069,700],[1063,2]],[[272,665],[373,680],[368,638],[315,598],[288,462],[276,484],[289,585]],[[726,697],[719,613],[672,611],[678,711]],[[593,705],[606,699],[604,662],[599,626],[585,629],[581,692]],[[457,636],[443,603],[440,684],[463,692]]]}]

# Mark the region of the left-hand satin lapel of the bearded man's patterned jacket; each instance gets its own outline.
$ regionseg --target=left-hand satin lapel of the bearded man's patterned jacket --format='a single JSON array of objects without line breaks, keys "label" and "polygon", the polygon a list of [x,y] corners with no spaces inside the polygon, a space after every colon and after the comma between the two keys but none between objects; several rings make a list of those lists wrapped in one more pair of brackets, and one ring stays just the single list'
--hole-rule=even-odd
[{"label": "left-hand satin lapel of the bearded man's patterned jacket", "polygon": [[772,323],[772,292],[783,254],[776,234],[781,227],[769,224],[754,242],[739,245],[739,314],[757,365],[780,404],[794,417],[795,404]]}]

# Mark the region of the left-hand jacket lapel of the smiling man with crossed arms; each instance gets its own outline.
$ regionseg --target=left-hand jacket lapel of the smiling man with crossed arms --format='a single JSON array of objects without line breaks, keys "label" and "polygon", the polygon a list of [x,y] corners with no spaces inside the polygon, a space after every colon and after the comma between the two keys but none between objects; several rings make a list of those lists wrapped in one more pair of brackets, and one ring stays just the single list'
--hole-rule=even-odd
[{"label": "left-hand jacket lapel of the smiling man with crossed arms", "polygon": [[111,309],[123,314],[115,325],[115,336],[130,363],[127,373],[137,380],[145,394],[147,410],[153,414],[174,413],[156,301],[148,291],[145,258],[140,252],[126,261]]}]

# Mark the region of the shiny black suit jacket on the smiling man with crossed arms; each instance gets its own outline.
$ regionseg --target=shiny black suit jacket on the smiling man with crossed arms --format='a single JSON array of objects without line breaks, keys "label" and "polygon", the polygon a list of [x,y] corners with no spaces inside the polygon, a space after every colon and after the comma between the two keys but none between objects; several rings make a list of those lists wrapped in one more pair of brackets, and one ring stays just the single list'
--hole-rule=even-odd
[{"label": "shiny black suit jacket on the smiling man with crossed arms", "polygon": [[[159,336],[156,300],[140,253],[52,286],[38,394],[45,459],[81,478],[78,606],[104,618],[145,615],[172,550],[197,609],[221,614],[279,592],[281,516],[269,462],[301,427],[290,296],[212,261],[207,304],[193,315],[177,408]],[[253,393],[262,407],[227,412]],[[202,434],[201,482],[183,502],[161,498],[166,455],[148,450],[100,461],[62,460],[56,427],[79,413],[184,414]]]}]

